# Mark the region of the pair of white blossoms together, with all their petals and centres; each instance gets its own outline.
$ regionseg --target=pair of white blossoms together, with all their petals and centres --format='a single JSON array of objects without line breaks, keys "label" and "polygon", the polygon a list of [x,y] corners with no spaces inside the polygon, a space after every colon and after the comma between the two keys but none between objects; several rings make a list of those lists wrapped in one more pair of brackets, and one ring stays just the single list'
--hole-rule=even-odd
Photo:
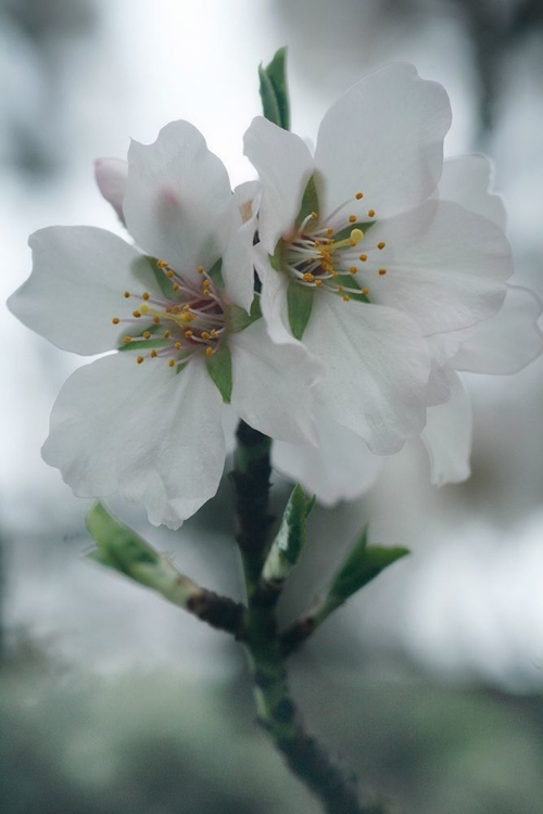
[{"label": "pair of white blossoms together, with all their petals and centres", "polygon": [[178,527],[216,492],[229,404],[327,504],[362,493],[378,456],[417,436],[433,482],[466,478],[458,371],[515,372],[542,338],[535,297],[507,285],[487,160],[443,162],[450,124],[443,88],[394,64],[332,105],[314,154],[255,118],[258,179],[233,192],[187,122],[132,142],[127,162],[97,162],[134,243],[38,231],[10,300],[60,347],[114,352],[62,389],[46,461],[77,495],[121,493]]}]

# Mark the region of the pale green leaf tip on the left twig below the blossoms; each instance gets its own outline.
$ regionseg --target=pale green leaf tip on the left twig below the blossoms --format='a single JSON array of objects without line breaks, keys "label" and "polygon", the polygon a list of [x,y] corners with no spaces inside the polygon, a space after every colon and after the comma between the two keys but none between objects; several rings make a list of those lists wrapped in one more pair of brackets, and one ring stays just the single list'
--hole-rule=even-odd
[{"label": "pale green leaf tip on the left twig below the blossoms", "polygon": [[98,544],[90,558],[131,576],[138,564],[156,564],[159,554],[144,539],[128,526],[119,523],[100,503],[96,504],[86,518],[87,529]]}]

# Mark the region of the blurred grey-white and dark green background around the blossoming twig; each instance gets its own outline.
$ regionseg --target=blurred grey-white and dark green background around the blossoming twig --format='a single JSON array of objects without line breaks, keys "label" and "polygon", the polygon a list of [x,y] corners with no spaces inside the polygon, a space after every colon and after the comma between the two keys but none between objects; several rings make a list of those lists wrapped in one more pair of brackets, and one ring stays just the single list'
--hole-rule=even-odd
[{"label": "blurred grey-white and dark green background around the blossoming twig", "polygon": [[[447,89],[447,154],[482,151],[508,205],[515,281],[543,297],[540,0],[0,0],[0,236],[5,297],[52,224],[119,232],[92,177],[187,118],[233,183],[260,113],[256,66],[289,46],[293,129],[407,60]],[[121,232],[119,232],[121,233]],[[3,307],[3,306],[2,306]],[[242,654],[88,564],[85,501],[40,459],[79,364],[2,310],[0,810],[5,814],[316,814],[254,725]],[[315,510],[281,612],[303,610],[367,520],[407,545],[292,661],[312,729],[409,814],[543,811],[543,359],[468,378],[473,474],[437,491],[413,444],[361,501]],[[279,510],[288,484],[276,478]],[[181,571],[240,598],[231,499],[179,533],[123,518]]]}]

